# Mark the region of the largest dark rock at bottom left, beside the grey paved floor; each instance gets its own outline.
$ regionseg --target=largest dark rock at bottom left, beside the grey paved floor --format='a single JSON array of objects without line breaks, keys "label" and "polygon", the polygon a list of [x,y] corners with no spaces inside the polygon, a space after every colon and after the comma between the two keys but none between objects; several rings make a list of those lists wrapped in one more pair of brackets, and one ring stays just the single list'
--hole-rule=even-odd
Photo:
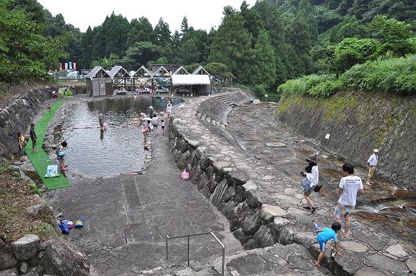
[{"label": "largest dark rock at bottom left, beside the grey paved floor", "polygon": [[40,260],[45,274],[89,276],[89,263],[83,252],[67,241],[49,239]]}]

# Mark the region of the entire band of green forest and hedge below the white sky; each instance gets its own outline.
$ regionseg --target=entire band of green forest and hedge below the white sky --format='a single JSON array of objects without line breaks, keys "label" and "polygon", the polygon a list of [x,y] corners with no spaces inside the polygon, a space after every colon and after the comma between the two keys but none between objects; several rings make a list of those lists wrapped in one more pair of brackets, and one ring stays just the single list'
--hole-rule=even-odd
[{"label": "entire band of green forest and hedge below the white sky", "polygon": [[[31,34],[12,32],[17,25]],[[0,5],[0,28],[10,30],[0,33],[0,82],[39,78],[69,59],[78,68],[119,64],[128,70],[166,63],[192,70],[202,64],[259,97],[328,96],[347,85],[416,89],[414,0],[259,0],[251,7],[243,1],[238,10],[226,6],[221,24],[211,30],[194,29],[187,17],[173,31],[163,18],[153,27],[146,17],[128,21],[113,12],[85,33],[36,0],[8,0]],[[33,45],[42,42],[46,48]],[[19,58],[31,50],[36,54]],[[389,75],[393,67],[406,71],[394,79],[399,84],[376,86],[372,76],[378,70]],[[375,72],[363,75],[364,70]]]}]

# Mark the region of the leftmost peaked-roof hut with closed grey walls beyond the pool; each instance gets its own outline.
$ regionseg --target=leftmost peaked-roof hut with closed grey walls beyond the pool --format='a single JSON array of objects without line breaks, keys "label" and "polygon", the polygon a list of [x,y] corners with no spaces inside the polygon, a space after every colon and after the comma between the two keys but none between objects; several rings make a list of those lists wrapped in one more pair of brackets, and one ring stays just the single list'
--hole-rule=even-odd
[{"label": "leftmost peaked-roof hut with closed grey walls beyond the pool", "polygon": [[112,94],[112,80],[103,67],[95,66],[85,79],[87,95],[94,97]]}]

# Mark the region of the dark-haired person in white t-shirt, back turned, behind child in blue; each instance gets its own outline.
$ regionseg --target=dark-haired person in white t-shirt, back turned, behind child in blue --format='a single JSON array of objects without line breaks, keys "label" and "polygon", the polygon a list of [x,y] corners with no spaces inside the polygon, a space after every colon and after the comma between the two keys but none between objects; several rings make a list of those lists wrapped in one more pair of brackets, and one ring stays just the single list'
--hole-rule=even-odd
[{"label": "dark-haired person in white t-shirt, back turned, behind child in blue", "polygon": [[344,237],[348,237],[349,226],[351,225],[352,212],[357,200],[357,192],[364,192],[363,181],[354,175],[354,166],[349,163],[343,165],[343,174],[341,178],[338,193],[340,198],[333,213],[334,217],[340,223],[341,219],[345,219]]}]

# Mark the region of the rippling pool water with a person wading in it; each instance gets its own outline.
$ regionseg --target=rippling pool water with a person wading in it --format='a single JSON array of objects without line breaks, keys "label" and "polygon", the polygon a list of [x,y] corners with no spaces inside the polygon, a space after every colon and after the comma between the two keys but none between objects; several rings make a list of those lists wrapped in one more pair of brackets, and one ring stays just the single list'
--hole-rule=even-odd
[{"label": "rippling pool water with a person wading in it", "polygon": [[[159,120],[167,98],[119,98],[72,104],[64,111],[64,122],[55,129],[57,145],[66,140],[65,163],[72,174],[85,178],[112,177],[136,172],[144,165],[143,134],[139,113],[149,114],[153,106]],[[171,100],[177,104],[180,100]],[[100,129],[103,116],[105,130]]]}]

